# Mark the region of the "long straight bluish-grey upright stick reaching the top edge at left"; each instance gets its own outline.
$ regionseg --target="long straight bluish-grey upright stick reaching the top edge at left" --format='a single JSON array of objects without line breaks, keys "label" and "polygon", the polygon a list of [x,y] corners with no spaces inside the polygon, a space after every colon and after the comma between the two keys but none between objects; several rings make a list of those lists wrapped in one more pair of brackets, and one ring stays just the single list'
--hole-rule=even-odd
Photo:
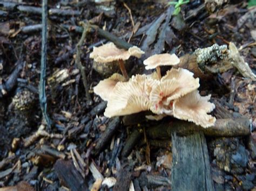
[{"label": "long straight bluish-grey upright stick reaching the top edge at left", "polygon": [[39,100],[43,117],[48,126],[51,126],[51,119],[47,114],[47,100],[45,94],[46,56],[47,56],[47,0],[42,4],[42,53],[41,53],[41,75],[39,84]]}]

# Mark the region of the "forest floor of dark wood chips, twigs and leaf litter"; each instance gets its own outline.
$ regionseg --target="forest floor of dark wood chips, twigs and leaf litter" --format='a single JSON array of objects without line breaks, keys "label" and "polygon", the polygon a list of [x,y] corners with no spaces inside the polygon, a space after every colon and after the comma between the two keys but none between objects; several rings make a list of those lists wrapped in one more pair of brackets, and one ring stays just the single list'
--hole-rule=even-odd
[{"label": "forest floor of dark wood chips, twigs and leaf litter", "polygon": [[[87,190],[92,185],[94,190],[113,186],[114,190],[171,189],[171,138],[152,139],[147,128],[172,118],[151,122],[133,116],[125,121],[103,115],[106,102],[93,93],[93,87],[116,71],[93,66],[89,58],[93,46],[109,41],[97,30],[87,33],[80,49],[92,101],[86,99],[82,75],[75,65],[82,21],[90,20],[138,47],[145,45],[150,36],[147,31],[155,24],[151,45],[143,47],[152,54],[167,52],[180,57],[197,48],[233,42],[256,73],[256,8],[248,8],[246,1],[230,1],[214,13],[206,11],[203,1],[184,4],[180,14],[167,22],[167,29],[166,1],[50,2],[46,97],[53,126],[49,128],[43,121],[38,94],[42,43],[42,26],[38,24],[42,18],[37,8],[41,4],[28,2],[0,2],[0,190],[8,186]],[[163,30],[168,31],[160,39]],[[154,45],[159,40],[164,43],[156,51]],[[144,72],[142,61],[129,59],[130,75]],[[231,118],[252,119],[250,136],[206,136],[214,187],[256,190],[255,81],[232,68],[200,79],[199,90],[202,95],[211,94],[211,101],[220,103]],[[127,145],[131,136],[135,136],[134,142]]]}]

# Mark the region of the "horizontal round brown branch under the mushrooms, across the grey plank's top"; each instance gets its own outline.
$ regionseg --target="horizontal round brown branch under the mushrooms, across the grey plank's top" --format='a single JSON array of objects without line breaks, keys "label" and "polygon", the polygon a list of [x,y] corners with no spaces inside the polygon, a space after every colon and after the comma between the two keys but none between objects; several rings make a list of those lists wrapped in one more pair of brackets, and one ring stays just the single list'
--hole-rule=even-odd
[{"label": "horizontal round brown branch under the mushrooms, across the grey plank's top", "polygon": [[213,137],[247,136],[251,134],[251,121],[246,118],[217,119],[214,126],[204,129],[194,123],[173,119],[170,123],[148,128],[147,136],[152,139],[167,139],[173,132],[177,132],[178,135],[189,135],[199,131]]}]

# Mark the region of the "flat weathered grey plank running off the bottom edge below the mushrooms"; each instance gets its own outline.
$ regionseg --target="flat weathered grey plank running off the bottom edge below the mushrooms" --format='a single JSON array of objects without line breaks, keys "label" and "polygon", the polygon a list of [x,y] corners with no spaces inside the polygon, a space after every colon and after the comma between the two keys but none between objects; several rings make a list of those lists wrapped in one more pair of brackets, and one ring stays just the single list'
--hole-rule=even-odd
[{"label": "flat weathered grey plank running off the bottom edge below the mushrooms", "polygon": [[203,132],[185,137],[174,132],[172,144],[172,190],[214,190]]}]

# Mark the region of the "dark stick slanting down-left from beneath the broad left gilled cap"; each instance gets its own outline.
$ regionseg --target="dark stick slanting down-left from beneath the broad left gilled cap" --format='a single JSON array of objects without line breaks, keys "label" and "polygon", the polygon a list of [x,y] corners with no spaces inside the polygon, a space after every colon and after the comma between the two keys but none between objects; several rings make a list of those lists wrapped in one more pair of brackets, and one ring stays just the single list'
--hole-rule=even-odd
[{"label": "dark stick slanting down-left from beneath the broad left gilled cap", "polygon": [[95,154],[98,154],[106,145],[107,142],[111,140],[114,135],[114,132],[117,131],[120,124],[120,117],[114,117],[112,121],[107,125],[107,128],[103,135],[97,140],[95,146]]}]

